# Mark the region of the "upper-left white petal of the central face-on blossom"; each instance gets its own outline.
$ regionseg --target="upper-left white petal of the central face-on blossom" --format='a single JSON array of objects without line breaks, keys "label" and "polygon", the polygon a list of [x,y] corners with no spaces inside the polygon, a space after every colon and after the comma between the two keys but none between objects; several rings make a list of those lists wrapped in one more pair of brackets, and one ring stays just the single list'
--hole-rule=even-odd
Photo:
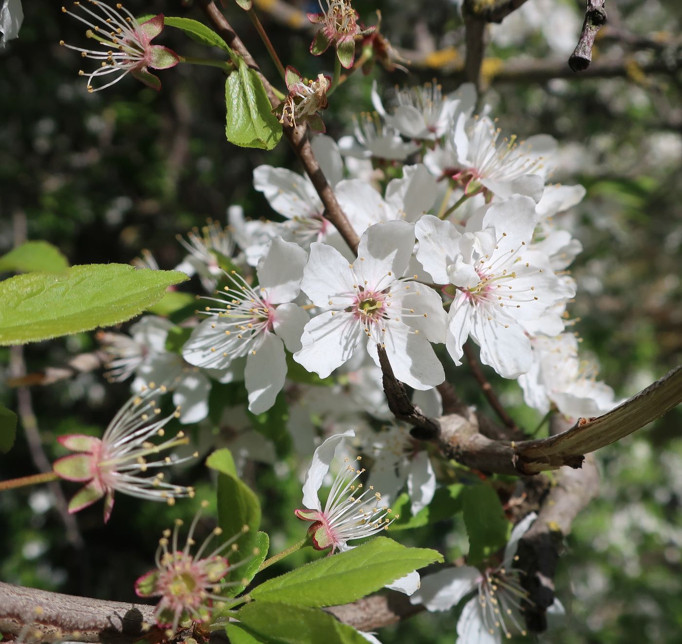
[{"label": "upper-left white petal of the central face-on blossom", "polygon": [[336,248],[313,242],[310,244],[310,259],[303,269],[301,291],[321,308],[351,306],[355,289],[348,260]]}]

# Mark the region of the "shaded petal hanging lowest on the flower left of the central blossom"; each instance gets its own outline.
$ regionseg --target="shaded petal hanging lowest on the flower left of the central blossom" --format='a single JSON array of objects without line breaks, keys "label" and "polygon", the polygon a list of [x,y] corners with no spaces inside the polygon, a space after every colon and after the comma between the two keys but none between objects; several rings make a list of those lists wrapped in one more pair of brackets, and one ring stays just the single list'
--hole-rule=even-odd
[{"label": "shaded petal hanging lowest on the flower left of the central blossom", "polygon": [[249,411],[262,413],[270,409],[284,387],[285,377],[286,355],[282,340],[266,331],[263,344],[246,357],[244,383],[249,392]]}]

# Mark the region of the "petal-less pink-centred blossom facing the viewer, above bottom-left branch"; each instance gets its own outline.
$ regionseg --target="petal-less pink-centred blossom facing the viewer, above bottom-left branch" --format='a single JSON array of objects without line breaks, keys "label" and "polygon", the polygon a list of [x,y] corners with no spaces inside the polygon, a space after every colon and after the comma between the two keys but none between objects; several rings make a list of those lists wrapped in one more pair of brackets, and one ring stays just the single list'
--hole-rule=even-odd
[{"label": "petal-less pink-centred blossom facing the viewer, above bottom-left branch", "polygon": [[[202,507],[207,506],[207,501],[203,501]],[[238,583],[227,581],[226,576],[248,561],[230,564],[223,555],[228,548],[233,553],[237,551],[235,541],[241,532],[222,542],[211,553],[204,554],[213,537],[222,535],[220,527],[213,529],[196,553],[191,555],[190,549],[195,544],[194,530],[200,516],[201,510],[194,516],[182,550],[178,546],[178,532],[183,522],[180,519],[175,521],[172,537],[170,530],[164,530],[156,551],[156,569],[135,582],[135,592],[139,597],[160,597],[154,618],[158,626],[168,629],[166,634],[169,637],[175,634],[181,620],[209,621],[216,603],[225,600],[222,590]]]}]

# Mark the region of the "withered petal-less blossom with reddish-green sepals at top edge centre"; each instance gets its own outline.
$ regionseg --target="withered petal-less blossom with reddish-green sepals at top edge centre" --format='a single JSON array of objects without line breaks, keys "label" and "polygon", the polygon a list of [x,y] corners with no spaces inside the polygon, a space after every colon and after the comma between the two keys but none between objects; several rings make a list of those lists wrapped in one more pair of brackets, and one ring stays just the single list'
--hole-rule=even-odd
[{"label": "withered petal-less blossom with reddish-green sepals at top edge centre", "polygon": [[357,11],[351,7],[351,0],[327,0],[326,11],[322,6],[322,0],[318,2],[322,13],[308,14],[308,20],[313,25],[322,25],[310,44],[310,53],[319,56],[333,44],[340,63],[349,69],[353,67],[355,61],[355,36],[372,33],[374,27],[369,29],[359,27]]}]

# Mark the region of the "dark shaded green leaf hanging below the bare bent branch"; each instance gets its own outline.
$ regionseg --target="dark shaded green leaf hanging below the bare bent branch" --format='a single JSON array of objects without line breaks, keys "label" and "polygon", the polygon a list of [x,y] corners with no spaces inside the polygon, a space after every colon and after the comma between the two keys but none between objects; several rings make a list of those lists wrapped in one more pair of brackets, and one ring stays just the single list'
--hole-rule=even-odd
[{"label": "dark shaded green leaf hanging below the bare bent branch", "polygon": [[489,485],[468,486],[462,491],[464,525],[469,536],[469,566],[479,566],[509,540],[511,523],[502,503]]}]

